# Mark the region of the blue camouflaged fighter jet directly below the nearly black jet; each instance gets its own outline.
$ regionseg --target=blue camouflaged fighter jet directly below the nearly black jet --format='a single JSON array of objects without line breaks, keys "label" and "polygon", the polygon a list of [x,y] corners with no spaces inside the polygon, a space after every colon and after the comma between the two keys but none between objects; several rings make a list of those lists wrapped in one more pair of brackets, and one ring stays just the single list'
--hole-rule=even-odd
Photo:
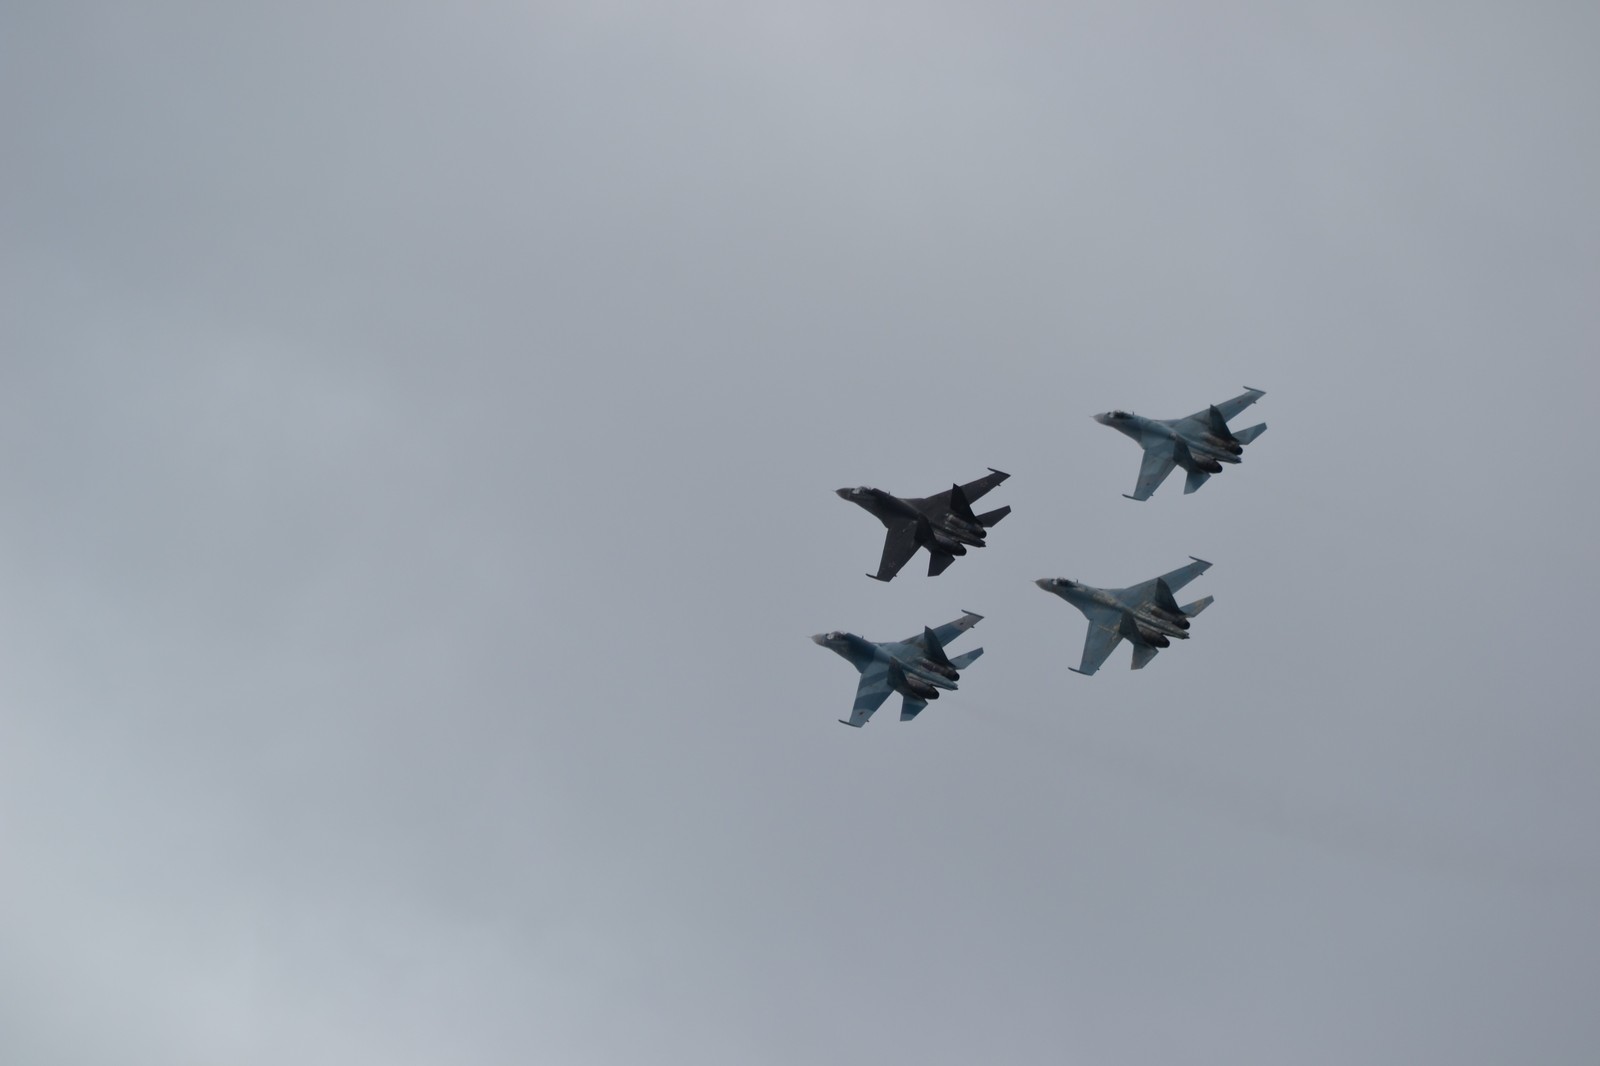
[{"label": "blue camouflaged fighter jet directly below the nearly black jet", "polygon": [[842,725],[861,728],[867,723],[891,691],[906,696],[901,703],[901,722],[910,722],[930,699],[939,698],[939,690],[955,691],[960,671],[984,653],[973,648],[954,659],[944,653],[944,645],[955,640],[963,632],[976,626],[982,615],[963,611],[960,618],[946,623],[938,629],[923,627],[920,637],[907,640],[891,640],[875,643],[853,632],[819,632],[811,637],[824,648],[830,648],[850,659],[850,664],[861,671],[861,683],[856,687],[856,706],[850,711],[850,720],[840,719]]}]

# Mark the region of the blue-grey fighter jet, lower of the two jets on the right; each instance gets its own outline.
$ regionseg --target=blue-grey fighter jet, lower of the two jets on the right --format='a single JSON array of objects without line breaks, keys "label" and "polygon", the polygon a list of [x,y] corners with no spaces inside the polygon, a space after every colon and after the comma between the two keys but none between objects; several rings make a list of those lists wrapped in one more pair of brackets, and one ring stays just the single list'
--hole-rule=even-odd
[{"label": "blue-grey fighter jet, lower of the two jets on the right", "polygon": [[1090,632],[1083,640],[1083,663],[1069,666],[1075,674],[1093,674],[1117,643],[1126,637],[1133,645],[1133,669],[1155,658],[1171,640],[1189,639],[1189,619],[1211,605],[1211,597],[1178,607],[1173,592],[1184,587],[1211,563],[1194,559],[1160,578],[1126,589],[1096,589],[1066,578],[1040,578],[1034,584],[1045,592],[1054,592],[1077,607],[1090,619]]}]

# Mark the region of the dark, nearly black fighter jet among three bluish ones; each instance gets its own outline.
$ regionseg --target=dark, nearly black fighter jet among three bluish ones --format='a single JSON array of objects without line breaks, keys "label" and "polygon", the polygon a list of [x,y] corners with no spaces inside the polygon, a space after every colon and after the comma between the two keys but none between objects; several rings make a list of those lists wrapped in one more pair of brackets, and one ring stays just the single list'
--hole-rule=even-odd
[{"label": "dark, nearly black fighter jet among three bluish ones", "polygon": [[840,499],[848,499],[872,512],[878,522],[888,527],[883,539],[883,559],[878,571],[869,578],[888,581],[901,571],[918,547],[926,547],[928,576],[944,573],[944,568],[955,562],[957,555],[965,555],[968,547],[982,547],[987,527],[1011,514],[1011,507],[1000,507],[987,514],[973,514],[973,501],[990,488],[1011,477],[989,467],[986,477],[965,485],[950,485],[950,491],[938,496],[901,498],[882,488],[838,488]]}]

